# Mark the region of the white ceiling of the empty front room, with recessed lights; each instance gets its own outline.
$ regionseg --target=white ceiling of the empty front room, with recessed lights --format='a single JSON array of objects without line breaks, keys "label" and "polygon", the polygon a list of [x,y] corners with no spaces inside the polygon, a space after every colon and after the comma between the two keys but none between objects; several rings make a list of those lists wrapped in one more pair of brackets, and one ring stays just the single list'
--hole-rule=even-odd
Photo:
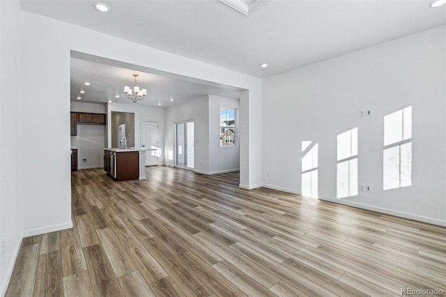
[{"label": "white ceiling of the empty front room, with recessed lights", "polygon": [[[430,0],[279,1],[245,16],[218,0],[22,0],[22,9],[255,77],[445,24]],[[262,69],[260,63],[269,67]]]}]

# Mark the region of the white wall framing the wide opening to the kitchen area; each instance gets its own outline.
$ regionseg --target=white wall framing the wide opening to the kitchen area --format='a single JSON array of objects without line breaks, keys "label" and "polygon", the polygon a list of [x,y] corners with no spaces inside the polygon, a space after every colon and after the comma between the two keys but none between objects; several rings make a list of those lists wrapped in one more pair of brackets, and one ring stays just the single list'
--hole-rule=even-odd
[{"label": "white wall framing the wide opening to the kitchen area", "polygon": [[[205,79],[210,82],[249,90],[242,113],[257,112],[261,102],[261,79],[218,68],[206,63],[154,50],[79,26],[52,20],[33,13],[22,12],[22,68],[20,78],[24,102],[23,125],[26,144],[45,148],[36,155],[23,155],[24,176],[24,233],[40,234],[72,226],[70,218],[70,50],[85,52],[108,59],[148,68]],[[25,46],[26,45],[26,46]],[[113,45],[113,47],[110,47]],[[132,50],[129,51],[128,49]],[[47,92],[51,82],[52,92]],[[61,98],[67,98],[61,100]],[[249,102],[248,102],[249,101]],[[112,103],[113,105],[114,103]],[[123,105],[124,106],[124,105]],[[112,109],[107,110],[109,118]],[[131,110],[115,109],[132,112]],[[135,119],[138,121],[138,119]],[[246,146],[240,159],[240,182],[246,187],[261,184],[261,114],[249,118],[241,127]],[[162,123],[162,119],[160,123]],[[58,125],[54,125],[58,123]],[[139,125],[135,132],[139,133]],[[40,135],[40,131],[52,131]],[[160,132],[162,135],[162,132]],[[256,137],[251,137],[254,135]],[[108,139],[110,138],[107,133]],[[25,141],[24,141],[25,144]],[[52,144],[49,146],[48,144]],[[136,145],[139,145],[138,143]],[[255,149],[254,149],[255,148]],[[161,162],[164,162],[161,160]],[[38,174],[30,174],[38,171]]]}]

